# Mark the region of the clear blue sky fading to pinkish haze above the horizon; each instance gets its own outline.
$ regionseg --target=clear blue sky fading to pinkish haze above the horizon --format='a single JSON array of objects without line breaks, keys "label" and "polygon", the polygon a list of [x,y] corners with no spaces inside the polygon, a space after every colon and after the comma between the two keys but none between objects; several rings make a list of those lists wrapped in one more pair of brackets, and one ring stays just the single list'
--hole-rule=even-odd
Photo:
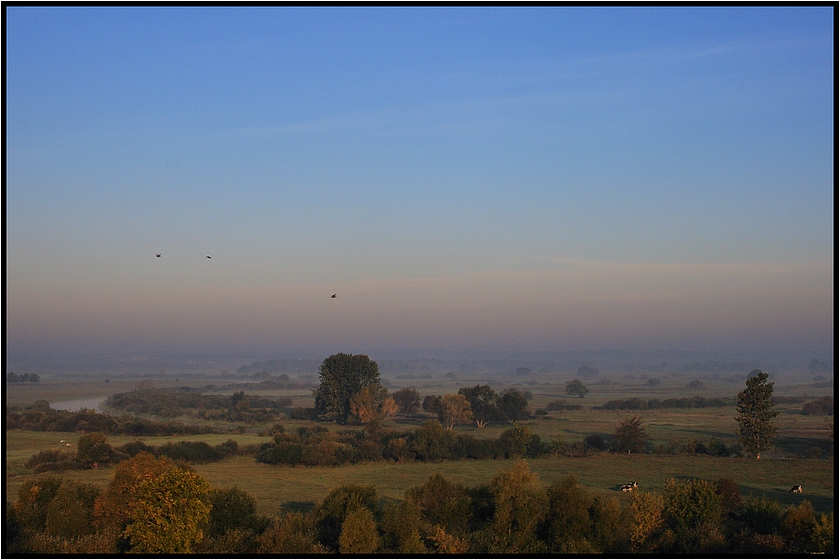
[{"label": "clear blue sky fading to pinkish haze above the horizon", "polygon": [[830,7],[5,9],[9,352],[834,348]]}]

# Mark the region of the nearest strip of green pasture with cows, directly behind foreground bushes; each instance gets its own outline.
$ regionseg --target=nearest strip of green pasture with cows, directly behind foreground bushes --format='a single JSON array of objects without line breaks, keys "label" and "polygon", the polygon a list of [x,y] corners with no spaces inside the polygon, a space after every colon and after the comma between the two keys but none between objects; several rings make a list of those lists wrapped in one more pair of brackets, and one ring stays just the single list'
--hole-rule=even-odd
[{"label": "nearest strip of green pasture with cows, directly behind foreground bushes", "polygon": [[[267,441],[257,436],[233,435],[240,444]],[[54,441],[75,441],[78,434],[52,432],[9,432],[7,460],[10,465],[6,477],[6,500],[13,501],[17,489],[28,476],[20,469],[31,456],[34,447],[54,445]],[[109,438],[114,444],[131,438]],[[180,440],[203,440],[216,444],[228,439],[225,435],[193,436]],[[173,438],[144,438],[147,443],[176,441]],[[544,485],[574,473],[581,484],[593,492],[615,493],[621,500],[626,494],[617,492],[617,485],[636,481],[641,491],[661,491],[668,478],[685,480],[704,478],[715,480],[730,477],[741,485],[744,496],[766,496],[782,505],[806,499],[818,511],[833,510],[833,461],[813,459],[738,459],[704,455],[621,455],[602,453],[590,457],[559,457],[527,460]],[[406,489],[423,484],[434,473],[441,473],[467,486],[487,483],[497,473],[507,470],[513,460],[444,461],[440,463],[373,462],[339,467],[288,467],[257,463],[252,457],[234,457],[217,463],[195,465],[195,470],[216,488],[238,486],[257,499],[260,513],[275,513],[281,507],[308,509],[341,484],[373,484],[381,498],[402,499]],[[17,465],[18,468],[13,468]],[[15,474],[15,471],[17,474]],[[22,472],[23,471],[23,472]],[[107,485],[113,468],[62,473],[75,480]],[[793,495],[788,489],[802,484],[803,494]]]}]

